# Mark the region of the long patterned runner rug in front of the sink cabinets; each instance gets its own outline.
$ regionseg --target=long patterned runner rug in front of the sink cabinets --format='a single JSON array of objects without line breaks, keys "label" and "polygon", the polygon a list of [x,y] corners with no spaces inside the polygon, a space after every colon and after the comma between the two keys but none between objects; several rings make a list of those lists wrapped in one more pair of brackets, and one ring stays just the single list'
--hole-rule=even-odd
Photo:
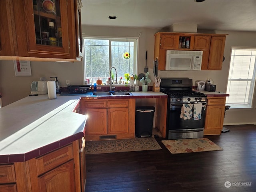
[{"label": "long patterned runner rug in front of the sink cabinets", "polygon": [[87,141],[85,154],[116,153],[162,149],[155,138]]}]

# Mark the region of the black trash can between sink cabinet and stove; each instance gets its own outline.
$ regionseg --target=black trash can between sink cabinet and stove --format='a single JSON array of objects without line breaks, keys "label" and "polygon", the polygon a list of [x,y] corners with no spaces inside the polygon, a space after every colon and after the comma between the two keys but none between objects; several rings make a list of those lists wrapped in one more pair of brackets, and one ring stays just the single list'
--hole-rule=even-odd
[{"label": "black trash can between sink cabinet and stove", "polygon": [[135,111],[135,135],[138,138],[151,137],[155,108],[137,106]]}]

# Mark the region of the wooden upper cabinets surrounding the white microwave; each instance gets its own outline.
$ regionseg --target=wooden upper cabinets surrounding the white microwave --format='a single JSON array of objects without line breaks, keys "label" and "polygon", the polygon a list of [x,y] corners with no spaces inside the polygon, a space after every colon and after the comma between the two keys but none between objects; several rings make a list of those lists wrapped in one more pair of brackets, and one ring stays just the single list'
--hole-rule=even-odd
[{"label": "wooden upper cabinets surrounding the white microwave", "polygon": [[154,36],[154,60],[158,58],[158,70],[166,70],[167,50],[201,50],[201,70],[222,69],[225,34],[158,32]]}]

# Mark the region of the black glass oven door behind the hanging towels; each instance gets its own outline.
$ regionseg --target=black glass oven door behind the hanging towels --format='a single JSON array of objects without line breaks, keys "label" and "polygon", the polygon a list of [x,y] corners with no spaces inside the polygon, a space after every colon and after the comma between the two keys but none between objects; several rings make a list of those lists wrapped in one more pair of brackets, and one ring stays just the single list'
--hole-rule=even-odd
[{"label": "black glass oven door behind the hanging towels", "polygon": [[205,122],[205,114],[206,108],[202,107],[202,115],[201,119],[194,120],[192,117],[191,119],[184,120],[180,118],[182,104],[171,104],[170,110],[168,112],[168,130],[182,130],[182,129],[194,129],[194,128],[204,128]]}]

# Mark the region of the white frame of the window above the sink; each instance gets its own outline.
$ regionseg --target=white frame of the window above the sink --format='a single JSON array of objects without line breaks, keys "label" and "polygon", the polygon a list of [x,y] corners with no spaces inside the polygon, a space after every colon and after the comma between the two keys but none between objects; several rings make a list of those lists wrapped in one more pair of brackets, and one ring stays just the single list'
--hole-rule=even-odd
[{"label": "white frame of the window above the sink", "polygon": [[[83,42],[83,78],[84,78],[84,81],[83,81],[83,84],[85,84],[84,82],[86,81],[86,67],[85,67],[85,45],[84,45],[84,39],[87,38],[87,39],[106,39],[106,40],[110,40],[109,41],[109,46],[110,46],[110,49],[109,49],[109,62],[110,62],[110,66],[109,66],[109,70],[112,66],[112,54],[111,54],[111,40],[112,41],[117,41],[117,40],[120,40],[122,39],[123,42],[127,41],[127,40],[131,40],[131,39],[134,39],[134,52],[136,52],[137,54],[134,55],[134,66],[133,66],[133,69],[134,69],[134,74],[137,74],[137,71],[138,71],[138,58],[139,58],[139,51],[138,51],[138,48],[139,48],[139,37],[112,37],[112,36],[91,36],[91,35],[82,35],[82,42]],[[136,45],[136,46],[135,46]]]}]

